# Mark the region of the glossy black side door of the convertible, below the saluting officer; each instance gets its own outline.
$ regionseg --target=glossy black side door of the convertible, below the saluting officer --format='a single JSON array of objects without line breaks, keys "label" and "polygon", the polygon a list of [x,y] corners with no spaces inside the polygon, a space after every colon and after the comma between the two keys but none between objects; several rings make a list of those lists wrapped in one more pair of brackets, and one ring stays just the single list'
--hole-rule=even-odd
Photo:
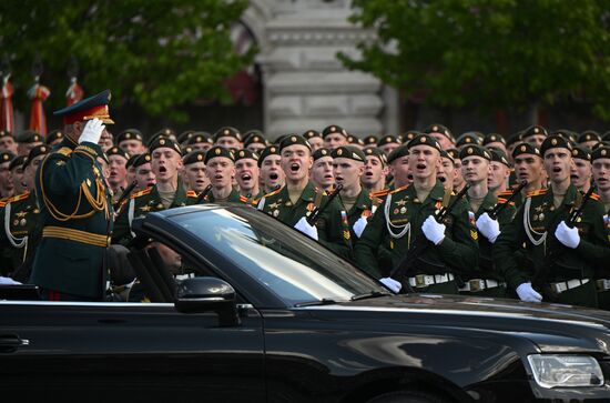
[{"label": "glossy black side door of the convertible, below the saluting officer", "polygon": [[22,400],[261,401],[262,319],[240,311],[221,328],[169,303],[0,301],[0,387]]}]

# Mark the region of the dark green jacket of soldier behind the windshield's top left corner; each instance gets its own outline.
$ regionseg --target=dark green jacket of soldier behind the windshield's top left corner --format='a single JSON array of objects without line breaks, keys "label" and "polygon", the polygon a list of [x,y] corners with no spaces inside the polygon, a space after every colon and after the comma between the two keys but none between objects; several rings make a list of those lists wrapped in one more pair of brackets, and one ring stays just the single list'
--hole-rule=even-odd
[{"label": "dark green jacket of soldier behind the windshield's top left corner", "polygon": [[[170,209],[194,204],[196,200],[196,193],[193,191],[185,191],[179,178],[177,189]],[[133,193],[120,206],[119,216],[116,216],[114,221],[112,243],[128,244],[129,241],[133,239],[131,233],[131,222],[133,219],[144,216],[150,212],[163,210],[165,210],[165,206],[161,202],[161,195],[156,190],[156,184]]]}]

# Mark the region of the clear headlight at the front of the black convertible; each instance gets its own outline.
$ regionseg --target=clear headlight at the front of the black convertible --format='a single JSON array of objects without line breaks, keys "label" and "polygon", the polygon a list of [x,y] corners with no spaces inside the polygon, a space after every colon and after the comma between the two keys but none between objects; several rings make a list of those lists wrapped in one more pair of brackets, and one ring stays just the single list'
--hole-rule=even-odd
[{"label": "clear headlight at the front of the black convertible", "polygon": [[528,361],[536,383],[542,387],[603,385],[601,367],[589,355],[532,354]]}]

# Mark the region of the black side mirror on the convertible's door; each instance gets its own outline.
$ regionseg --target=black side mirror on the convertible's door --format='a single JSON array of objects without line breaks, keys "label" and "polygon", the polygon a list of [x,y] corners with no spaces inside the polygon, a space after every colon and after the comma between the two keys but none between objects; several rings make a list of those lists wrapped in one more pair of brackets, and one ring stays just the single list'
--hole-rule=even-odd
[{"label": "black side mirror on the convertible's door", "polygon": [[176,311],[182,313],[216,312],[221,326],[240,324],[235,290],[221,279],[185,279],[177,285]]}]

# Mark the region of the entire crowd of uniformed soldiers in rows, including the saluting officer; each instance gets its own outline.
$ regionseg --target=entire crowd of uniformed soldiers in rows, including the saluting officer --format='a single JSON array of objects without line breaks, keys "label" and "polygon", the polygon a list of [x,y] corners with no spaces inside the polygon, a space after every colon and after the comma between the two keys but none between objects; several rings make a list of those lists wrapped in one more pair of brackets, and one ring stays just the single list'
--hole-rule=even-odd
[{"label": "entire crowd of uniformed soldiers in rows, including the saluting officer", "polygon": [[[360,139],[331,124],[273,141],[231,127],[213,134],[163,129],[146,141],[136,129],[113,135],[101,117],[80,117],[45,139],[0,133],[1,274],[41,286],[48,299],[101,298],[104,276],[71,273],[91,250],[129,245],[135,218],[236,202],[294,226],[395,292],[610,309],[610,132],[531,125],[508,139],[476,131],[456,139],[430,124]],[[79,177],[83,161],[90,177]],[[63,197],[73,192],[79,205]],[[100,221],[91,224],[93,216]],[[53,244],[67,240],[83,248]],[[418,244],[426,248],[405,264]],[[49,263],[61,253],[68,268]],[[35,263],[43,259],[54,269]]]}]

